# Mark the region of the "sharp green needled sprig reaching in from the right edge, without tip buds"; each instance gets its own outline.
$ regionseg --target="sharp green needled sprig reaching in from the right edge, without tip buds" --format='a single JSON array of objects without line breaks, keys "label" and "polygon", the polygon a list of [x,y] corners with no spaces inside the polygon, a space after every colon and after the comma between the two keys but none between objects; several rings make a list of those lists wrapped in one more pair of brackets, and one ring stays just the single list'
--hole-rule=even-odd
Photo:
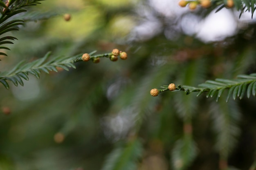
[{"label": "sharp green needled sprig reaching in from the right edge, without tip buds", "polygon": [[[162,89],[157,89],[159,93],[167,91],[168,86],[161,86]],[[234,100],[239,97],[242,99],[247,94],[249,98],[250,95],[256,94],[256,73],[250,75],[238,75],[236,79],[220,79],[217,78],[215,81],[207,80],[205,83],[199,84],[198,87],[193,86],[182,86],[177,85],[174,91],[184,91],[186,95],[192,92],[198,92],[197,96],[200,96],[203,92],[208,92],[206,97],[213,97],[216,95],[216,101],[223,94],[223,92],[228,89],[227,99],[232,97]]]}]

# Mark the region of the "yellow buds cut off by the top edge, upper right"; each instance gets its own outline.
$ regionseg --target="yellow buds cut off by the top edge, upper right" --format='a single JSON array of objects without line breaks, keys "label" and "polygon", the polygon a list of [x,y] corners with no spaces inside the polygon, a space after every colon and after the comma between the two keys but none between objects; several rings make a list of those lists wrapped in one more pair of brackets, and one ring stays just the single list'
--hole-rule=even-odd
[{"label": "yellow buds cut off by the top edge, upper right", "polygon": [[[200,5],[203,8],[209,8],[211,7],[211,0],[180,0],[179,5],[180,7],[186,7],[186,5],[189,4],[189,9],[194,10],[198,5]],[[227,0],[226,3],[227,8],[232,8],[234,7],[234,0]]]}]

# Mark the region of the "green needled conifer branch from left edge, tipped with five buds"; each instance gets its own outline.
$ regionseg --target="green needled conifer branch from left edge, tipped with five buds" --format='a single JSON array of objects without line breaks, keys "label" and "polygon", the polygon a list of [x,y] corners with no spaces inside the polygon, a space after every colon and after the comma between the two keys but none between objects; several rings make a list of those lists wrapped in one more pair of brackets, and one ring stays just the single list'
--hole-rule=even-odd
[{"label": "green needled conifer branch from left edge, tipped with five buds", "polygon": [[[74,65],[74,63],[76,62],[81,62],[81,61],[87,62],[89,60],[92,60],[92,62],[98,63],[100,57],[108,57],[110,58],[110,60],[112,60],[113,52],[93,55],[94,53],[96,53],[96,51],[93,51],[90,54],[88,53],[78,54],[72,57],[57,56],[57,57],[50,58],[51,53],[48,52],[43,58],[34,60],[32,62],[27,62],[27,63],[25,61],[21,61],[11,71],[1,72],[0,82],[4,85],[5,88],[9,89],[9,84],[7,80],[13,82],[15,86],[18,86],[18,84],[23,86],[24,84],[22,79],[29,80],[29,77],[28,77],[29,74],[32,74],[36,78],[39,78],[41,71],[45,73],[49,73],[49,71],[58,72],[57,67],[63,68],[64,70],[68,71],[69,68],[76,68],[76,66]],[[119,51],[118,51],[118,55],[120,56],[120,58],[122,57],[122,55],[124,55],[124,53],[125,52],[121,52],[119,54]],[[83,58],[84,55],[87,55],[89,57],[88,60],[84,60]]]}]

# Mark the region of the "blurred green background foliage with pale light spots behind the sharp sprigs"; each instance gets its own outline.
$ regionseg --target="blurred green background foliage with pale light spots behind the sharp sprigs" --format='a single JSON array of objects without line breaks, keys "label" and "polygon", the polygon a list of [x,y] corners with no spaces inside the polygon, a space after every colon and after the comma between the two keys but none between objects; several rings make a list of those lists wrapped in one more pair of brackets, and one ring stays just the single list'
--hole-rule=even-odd
[{"label": "blurred green background foliage with pale light spots behind the sharp sprigs", "polygon": [[0,170],[254,170],[255,97],[149,93],[254,73],[249,12],[191,11],[178,0],[46,0],[28,10],[1,71],[48,51],[117,48],[128,59],[0,86]]}]

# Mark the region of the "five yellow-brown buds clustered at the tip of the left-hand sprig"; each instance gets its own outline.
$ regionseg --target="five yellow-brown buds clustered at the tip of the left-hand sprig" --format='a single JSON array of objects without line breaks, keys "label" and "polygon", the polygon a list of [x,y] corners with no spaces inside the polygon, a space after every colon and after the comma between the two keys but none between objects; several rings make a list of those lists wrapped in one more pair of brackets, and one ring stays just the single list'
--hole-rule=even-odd
[{"label": "five yellow-brown buds clustered at the tip of the left-hand sprig", "polygon": [[[97,56],[97,57],[92,57],[92,62],[99,63],[99,61],[100,61],[99,57],[109,57],[111,61],[115,62],[115,61],[118,60],[118,56],[122,60],[126,60],[127,59],[127,53],[126,52],[119,51],[118,49],[113,49],[111,53],[103,54],[103,55]],[[88,62],[90,59],[91,59],[90,54],[84,53],[82,55],[82,60],[84,62]]]}]

